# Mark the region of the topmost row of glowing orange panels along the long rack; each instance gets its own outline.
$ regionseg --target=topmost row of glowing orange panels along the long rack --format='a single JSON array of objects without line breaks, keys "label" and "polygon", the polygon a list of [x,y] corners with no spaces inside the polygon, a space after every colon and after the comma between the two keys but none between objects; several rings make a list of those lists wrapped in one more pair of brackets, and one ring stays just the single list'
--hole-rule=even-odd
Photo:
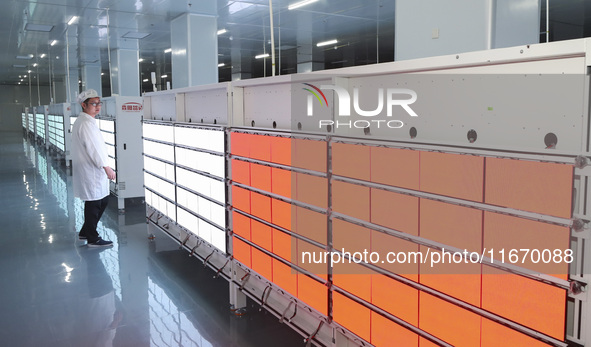
[{"label": "topmost row of glowing orange panels along the long rack", "polygon": [[[324,141],[233,132],[231,143],[235,156],[321,173],[327,170]],[[334,143],[332,173],[495,206],[571,217],[572,165]]]}]

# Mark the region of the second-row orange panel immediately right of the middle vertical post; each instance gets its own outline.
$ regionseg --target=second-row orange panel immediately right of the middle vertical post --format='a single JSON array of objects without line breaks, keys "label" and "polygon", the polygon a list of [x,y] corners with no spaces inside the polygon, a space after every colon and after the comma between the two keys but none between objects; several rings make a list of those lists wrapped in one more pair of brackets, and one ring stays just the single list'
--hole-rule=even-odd
[{"label": "second-row orange panel immediately right of the middle vertical post", "polygon": [[369,221],[369,188],[333,181],[333,211]]}]

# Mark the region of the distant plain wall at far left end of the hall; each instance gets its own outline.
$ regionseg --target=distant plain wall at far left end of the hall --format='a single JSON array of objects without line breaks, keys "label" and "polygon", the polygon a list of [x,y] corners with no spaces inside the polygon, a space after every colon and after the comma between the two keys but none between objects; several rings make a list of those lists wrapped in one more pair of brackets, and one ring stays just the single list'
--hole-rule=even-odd
[{"label": "distant plain wall at far left end of the hall", "polygon": [[26,106],[49,104],[49,87],[0,86],[0,131],[21,131],[21,114]]}]

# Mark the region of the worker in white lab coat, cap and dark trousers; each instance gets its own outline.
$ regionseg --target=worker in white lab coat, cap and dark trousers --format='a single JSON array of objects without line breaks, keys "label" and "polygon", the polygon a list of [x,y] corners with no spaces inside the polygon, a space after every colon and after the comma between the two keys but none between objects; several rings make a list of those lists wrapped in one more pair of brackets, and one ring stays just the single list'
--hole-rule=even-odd
[{"label": "worker in white lab coat, cap and dark trousers", "polygon": [[103,240],[96,230],[109,202],[109,180],[115,179],[115,172],[107,164],[107,148],[95,120],[102,103],[94,89],[80,93],[78,103],[82,112],[72,128],[74,196],[84,200],[84,225],[78,237],[85,239],[89,247],[109,247],[113,242]]}]

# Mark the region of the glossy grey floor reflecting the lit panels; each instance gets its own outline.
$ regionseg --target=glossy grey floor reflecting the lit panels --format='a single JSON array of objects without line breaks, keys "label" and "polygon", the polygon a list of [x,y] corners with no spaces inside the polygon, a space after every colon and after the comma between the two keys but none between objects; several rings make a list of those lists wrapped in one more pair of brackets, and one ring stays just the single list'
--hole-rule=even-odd
[{"label": "glossy grey floor reflecting the lit panels", "polygon": [[68,171],[21,133],[0,133],[0,345],[304,345],[258,305],[234,316],[224,279],[168,236],[148,239],[139,201],[119,215],[111,197],[99,233],[114,247],[86,247]]}]

